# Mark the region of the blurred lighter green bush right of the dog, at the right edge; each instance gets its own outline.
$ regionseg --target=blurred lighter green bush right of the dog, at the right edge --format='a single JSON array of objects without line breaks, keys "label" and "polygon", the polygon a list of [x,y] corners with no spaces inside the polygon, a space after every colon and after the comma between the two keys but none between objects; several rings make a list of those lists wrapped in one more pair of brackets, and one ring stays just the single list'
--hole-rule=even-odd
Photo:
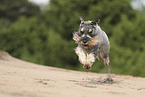
[{"label": "blurred lighter green bush right of the dog, at the right edge", "polygon": [[[130,21],[122,15],[121,23],[113,31],[110,41],[113,69],[121,74],[131,74],[135,76],[144,75],[144,15],[137,15]],[[117,53],[118,52],[118,53]],[[118,67],[120,66],[120,67]],[[118,70],[120,69],[121,70]]]}]

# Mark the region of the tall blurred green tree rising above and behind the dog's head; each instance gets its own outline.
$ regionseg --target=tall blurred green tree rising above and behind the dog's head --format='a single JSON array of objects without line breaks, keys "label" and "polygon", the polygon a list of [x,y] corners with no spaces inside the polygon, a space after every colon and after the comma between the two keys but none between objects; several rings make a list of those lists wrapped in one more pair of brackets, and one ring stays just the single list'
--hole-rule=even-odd
[{"label": "tall blurred green tree rising above and behind the dog's head", "polygon": [[[121,15],[135,18],[131,0],[50,0],[47,16],[51,27],[65,39],[71,40],[71,32],[77,30],[83,16],[85,20],[101,19],[100,24],[110,36],[114,25],[118,24]],[[47,18],[48,18],[47,17]]]}]

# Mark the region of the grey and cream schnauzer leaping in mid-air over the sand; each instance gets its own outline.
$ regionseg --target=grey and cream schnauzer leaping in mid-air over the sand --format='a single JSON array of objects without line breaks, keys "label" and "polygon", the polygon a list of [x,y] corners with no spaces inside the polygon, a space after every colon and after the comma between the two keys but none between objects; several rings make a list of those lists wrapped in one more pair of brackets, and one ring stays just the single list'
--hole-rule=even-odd
[{"label": "grey and cream schnauzer leaping in mid-air over the sand", "polygon": [[91,70],[92,64],[96,58],[109,66],[109,50],[110,42],[106,33],[100,28],[96,21],[84,21],[79,16],[81,23],[77,32],[73,33],[73,40],[78,44],[75,53],[78,55],[80,63],[84,64],[84,68]]}]

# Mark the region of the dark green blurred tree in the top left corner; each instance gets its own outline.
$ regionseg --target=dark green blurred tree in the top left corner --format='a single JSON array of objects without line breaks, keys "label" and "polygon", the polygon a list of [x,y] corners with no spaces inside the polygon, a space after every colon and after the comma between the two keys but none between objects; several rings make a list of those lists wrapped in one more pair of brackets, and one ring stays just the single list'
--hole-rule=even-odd
[{"label": "dark green blurred tree in the top left corner", "polygon": [[28,0],[0,0],[0,18],[15,21],[20,16],[31,17],[40,12],[38,6]]}]

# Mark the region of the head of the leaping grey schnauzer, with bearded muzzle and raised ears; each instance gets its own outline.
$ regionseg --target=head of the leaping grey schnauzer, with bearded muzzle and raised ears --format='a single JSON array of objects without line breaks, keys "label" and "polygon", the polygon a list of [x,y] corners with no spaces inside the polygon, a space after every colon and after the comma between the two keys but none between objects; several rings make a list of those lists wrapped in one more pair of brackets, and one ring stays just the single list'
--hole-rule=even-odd
[{"label": "head of the leaping grey schnauzer, with bearded muzzle and raised ears", "polygon": [[96,45],[98,42],[97,40],[94,40],[94,38],[98,34],[96,31],[96,26],[100,20],[84,21],[81,16],[79,18],[81,20],[80,27],[78,32],[73,34],[73,39],[76,41],[76,43],[87,50]]}]

